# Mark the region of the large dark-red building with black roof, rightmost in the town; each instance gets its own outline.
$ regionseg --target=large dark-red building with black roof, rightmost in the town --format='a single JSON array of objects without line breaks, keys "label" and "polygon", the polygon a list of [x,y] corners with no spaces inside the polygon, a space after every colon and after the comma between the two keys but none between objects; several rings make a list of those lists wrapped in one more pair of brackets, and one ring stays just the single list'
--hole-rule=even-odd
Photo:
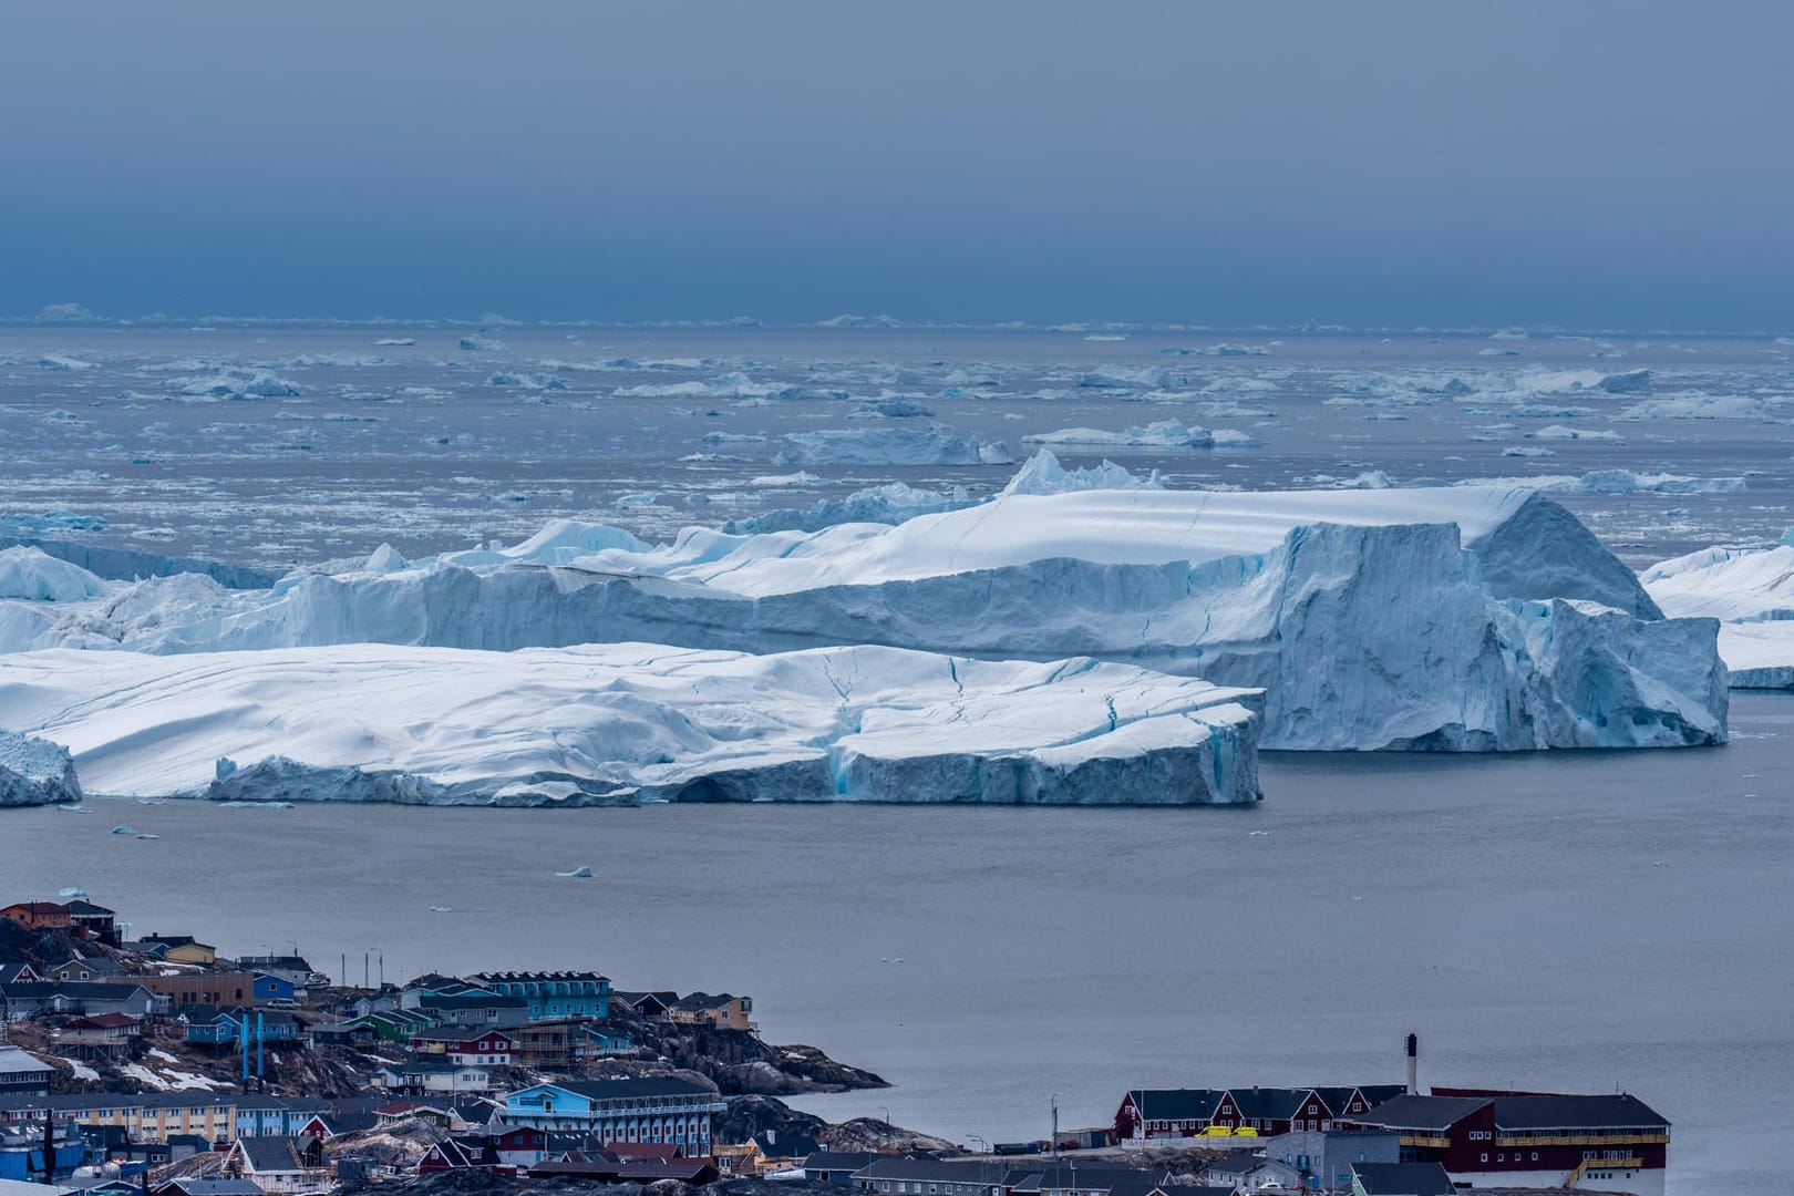
[{"label": "large dark-red building with black roof, rightmost in the town", "polygon": [[1636,1096],[1435,1088],[1344,1121],[1390,1130],[1405,1162],[1439,1162],[1475,1187],[1663,1196],[1670,1122]]}]

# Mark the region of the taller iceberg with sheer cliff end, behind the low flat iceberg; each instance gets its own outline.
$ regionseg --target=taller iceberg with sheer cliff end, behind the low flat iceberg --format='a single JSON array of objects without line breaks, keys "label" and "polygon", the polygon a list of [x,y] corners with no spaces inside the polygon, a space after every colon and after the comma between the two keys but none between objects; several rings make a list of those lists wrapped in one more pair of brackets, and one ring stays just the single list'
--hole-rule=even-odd
[{"label": "taller iceberg with sheer cliff end, behind the low flat iceberg", "polygon": [[1633,570],[1527,490],[1003,495],[895,527],[687,529],[658,547],[556,525],[240,601],[185,624],[160,604],[156,626],[72,613],[30,646],[888,644],[1265,689],[1272,748],[1726,739],[1717,624],[1663,619]]}]

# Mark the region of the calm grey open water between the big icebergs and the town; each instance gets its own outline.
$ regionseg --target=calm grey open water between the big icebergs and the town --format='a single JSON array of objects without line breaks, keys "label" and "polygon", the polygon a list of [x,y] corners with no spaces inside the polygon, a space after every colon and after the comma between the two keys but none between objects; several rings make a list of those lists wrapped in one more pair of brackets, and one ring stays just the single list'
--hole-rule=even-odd
[{"label": "calm grey open water between the big icebergs and the town", "polygon": [[1642,1094],[1672,1192],[1787,1191],[1794,699],[1740,698],[1733,733],[1274,757],[1256,810],[95,800],[0,816],[0,888],[355,979],[377,949],[388,979],[746,992],[771,1040],[895,1083],[802,1105],[962,1140],[1041,1135],[1055,1094],[1069,1126],[1137,1085],[1396,1081],[1415,1031],[1423,1081]]}]

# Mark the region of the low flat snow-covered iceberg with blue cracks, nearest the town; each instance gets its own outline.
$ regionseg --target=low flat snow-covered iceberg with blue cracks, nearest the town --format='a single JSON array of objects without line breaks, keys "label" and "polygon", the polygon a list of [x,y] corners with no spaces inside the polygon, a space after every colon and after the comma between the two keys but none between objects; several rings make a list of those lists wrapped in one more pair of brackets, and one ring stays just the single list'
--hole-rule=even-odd
[{"label": "low flat snow-covered iceberg with blue cracks, nearest the town", "polygon": [[47,651],[0,723],[93,793],[269,802],[1241,803],[1256,694],[1094,660],[344,644]]}]

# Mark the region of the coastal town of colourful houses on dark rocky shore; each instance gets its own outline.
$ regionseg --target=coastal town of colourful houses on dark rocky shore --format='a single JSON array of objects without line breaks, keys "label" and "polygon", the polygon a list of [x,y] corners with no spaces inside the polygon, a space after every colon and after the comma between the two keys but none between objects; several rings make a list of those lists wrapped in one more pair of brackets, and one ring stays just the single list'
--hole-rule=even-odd
[{"label": "coastal town of colourful houses on dark rocky shore", "polygon": [[768,1045],[746,995],[371,961],[352,986],[57,897],[0,909],[0,1196],[1663,1192],[1640,1097],[1423,1090],[1412,1035],[1405,1083],[1139,1088],[1112,1124],[971,1149],[784,1105],[884,1081]]}]

